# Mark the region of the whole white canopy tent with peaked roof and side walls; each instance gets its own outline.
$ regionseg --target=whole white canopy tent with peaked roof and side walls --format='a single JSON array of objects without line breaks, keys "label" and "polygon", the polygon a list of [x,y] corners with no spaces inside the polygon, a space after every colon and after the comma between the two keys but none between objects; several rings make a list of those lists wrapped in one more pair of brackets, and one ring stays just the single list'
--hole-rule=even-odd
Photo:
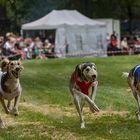
[{"label": "whole white canopy tent with peaked roof and side walls", "polygon": [[92,20],[76,10],[53,10],[22,30],[56,30],[55,53],[59,57],[106,51],[106,24]]}]

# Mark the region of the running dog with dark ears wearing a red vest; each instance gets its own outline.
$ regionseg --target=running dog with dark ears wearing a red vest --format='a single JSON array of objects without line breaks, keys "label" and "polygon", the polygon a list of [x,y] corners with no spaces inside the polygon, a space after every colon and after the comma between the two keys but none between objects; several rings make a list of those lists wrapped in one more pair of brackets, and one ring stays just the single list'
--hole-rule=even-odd
[{"label": "running dog with dark ears wearing a red vest", "polygon": [[[99,112],[99,108],[94,103],[97,85],[97,70],[94,63],[85,62],[76,66],[75,71],[71,75],[69,88],[79,113],[81,128],[85,128],[83,118],[85,102],[88,103],[92,112]],[[90,87],[92,87],[91,95],[89,95]]]}]

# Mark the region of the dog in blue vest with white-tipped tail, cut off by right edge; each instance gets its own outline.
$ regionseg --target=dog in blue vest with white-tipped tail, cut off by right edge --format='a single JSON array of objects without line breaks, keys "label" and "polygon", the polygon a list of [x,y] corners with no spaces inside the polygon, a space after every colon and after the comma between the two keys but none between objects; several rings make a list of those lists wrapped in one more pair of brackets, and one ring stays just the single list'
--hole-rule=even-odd
[{"label": "dog in blue vest with white-tipped tail, cut off by right edge", "polygon": [[135,114],[137,120],[140,121],[140,65],[132,68],[129,73],[123,72],[123,76],[127,77],[128,85],[131,88],[133,96],[138,104]]}]

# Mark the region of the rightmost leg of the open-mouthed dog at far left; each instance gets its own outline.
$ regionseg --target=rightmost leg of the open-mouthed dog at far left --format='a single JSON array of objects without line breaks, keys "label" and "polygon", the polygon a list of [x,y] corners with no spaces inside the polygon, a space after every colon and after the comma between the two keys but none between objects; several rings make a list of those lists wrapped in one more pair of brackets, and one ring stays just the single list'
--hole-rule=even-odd
[{"label": "rightmost leg of the open-mouthed dog at far left", "polygon": [[18,106],[19,106],[20,96],[21,96],[21,93],[19,93],[19,95],[15,97],[14,108],[13,108],[13,110],[12,110],[12,113],[13,113],[15,116],[19,115]]}]

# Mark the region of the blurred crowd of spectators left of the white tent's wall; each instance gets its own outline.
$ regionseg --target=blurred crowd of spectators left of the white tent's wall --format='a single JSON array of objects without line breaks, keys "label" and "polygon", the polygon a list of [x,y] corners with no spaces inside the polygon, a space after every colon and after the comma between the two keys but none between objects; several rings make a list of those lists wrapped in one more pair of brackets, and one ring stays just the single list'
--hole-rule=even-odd
[{"label": "blurred crowd of spectators left of the white tent's wall", "polygon": [[24,59],[43,59],[53,57],[54,42],[50,38],[42,41],[39,37],[23,38],[13,33],[0,36],[0,57]]}]

